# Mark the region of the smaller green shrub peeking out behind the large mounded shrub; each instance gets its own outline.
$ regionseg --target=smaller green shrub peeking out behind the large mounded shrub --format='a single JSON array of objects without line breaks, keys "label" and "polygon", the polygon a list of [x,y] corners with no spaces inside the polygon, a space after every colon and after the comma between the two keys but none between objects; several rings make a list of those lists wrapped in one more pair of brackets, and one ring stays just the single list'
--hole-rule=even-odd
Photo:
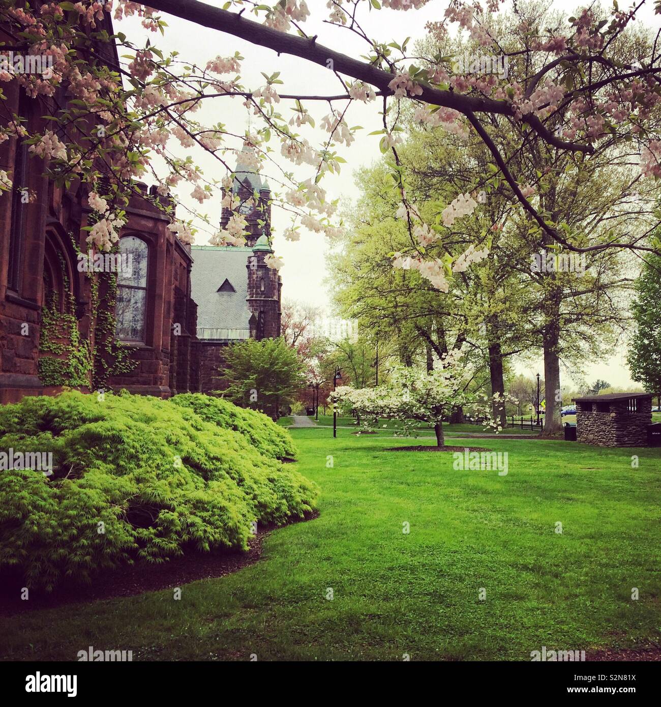
[{"label": "smaller green shrub peeking out behind the large mounded shrub", "polygon": [[170,398],[170,403],[192,409],[206,422],[240,432],[262,454],[276,459],[296,458],[297,452],[291,435],[276,425],[268,415],[201,393],[175,395]]}]

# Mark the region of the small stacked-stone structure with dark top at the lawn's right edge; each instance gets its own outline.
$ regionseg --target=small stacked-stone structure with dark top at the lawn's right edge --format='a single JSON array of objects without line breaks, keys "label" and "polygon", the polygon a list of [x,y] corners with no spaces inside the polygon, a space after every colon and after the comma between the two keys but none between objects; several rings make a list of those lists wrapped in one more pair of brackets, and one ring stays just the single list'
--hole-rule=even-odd
[{"label": "small stacked-stone structure with dark top at the lawn's right edge", "polygon": [[646,447],[652,399],[637,400],[636,413],[627,410],[625,401],[577,403],[576,441],[601,447]]}]

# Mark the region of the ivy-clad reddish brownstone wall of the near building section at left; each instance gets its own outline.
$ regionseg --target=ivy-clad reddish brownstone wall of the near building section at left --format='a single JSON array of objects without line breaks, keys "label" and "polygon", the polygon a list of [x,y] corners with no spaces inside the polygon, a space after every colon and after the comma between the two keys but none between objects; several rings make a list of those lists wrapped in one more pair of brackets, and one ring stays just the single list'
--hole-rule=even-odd
[{"label": "ivy-clad reddish brownstone wall of the near building section at left", "polygon": [[[107,15],[104,22],[112,34]],[[0,40],[11,40],[1,27]],[[98,47],[98,55],[117,63],[110,43]],[[16,113],[28,120],[30,132],[52,127],[41,118],[45,101],[63,105],[67,100],[65,87],[53,99],[38,100],[28,98],[17,81],[4,83],[3,90],[7,98],[0,120]],[[119,249],[125,239],[144,244],[145,282],[139,288],[141,306],[134,307],[134,318],[142,323],[139,336],[127,341],[129,361],[115,366],[112,375],[115,285],[105,273],[78,267],[80,254],[89,252],[83,227],[91,214],[90,188],[80,183],[56,187],[44,176],[46,166],[29,155],[21,139],[0,144],[0,170],[13,180],[11,192],[0,192],[0,402],[52,395],[63,385],[92,390],[104,371],[110,374],[103,376],[110,389],[160,396],[197,390],[192,256],[168,230],[171,216],[154,203],[156,192],[142,186],[126,208]],[[109,312],[111,324],[104,318]]]}]

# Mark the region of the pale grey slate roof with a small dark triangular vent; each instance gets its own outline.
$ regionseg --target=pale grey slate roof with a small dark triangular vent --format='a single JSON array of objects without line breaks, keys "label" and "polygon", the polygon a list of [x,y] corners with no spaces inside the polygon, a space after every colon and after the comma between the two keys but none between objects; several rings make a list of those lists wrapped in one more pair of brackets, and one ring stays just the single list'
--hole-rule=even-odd
[{"label": "pale grey slate roof with a small dark triangular vent", "polygon": [[[192,298],[197,303],[197,338],[233,341],[250,337],[248,257],[252,248],[193,245]],[[218,292],[228,279],[236,292]]]}]

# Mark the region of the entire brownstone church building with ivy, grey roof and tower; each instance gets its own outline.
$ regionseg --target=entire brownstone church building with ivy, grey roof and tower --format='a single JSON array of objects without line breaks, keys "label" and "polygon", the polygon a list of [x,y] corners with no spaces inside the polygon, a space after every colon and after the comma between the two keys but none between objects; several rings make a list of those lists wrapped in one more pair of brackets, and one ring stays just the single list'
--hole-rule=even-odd
[{"label": "entire brownstone church building with ivy, grey roof and tower", "polygon": [[[112,34],[107,15],[105,22]],[[117,64],[115,45],[99,52]],[[43,106],[16,81],[3,88],[5,115],[27,117],[30,130],[44,132]],[[55,100],[66,102],[64,89]],[[21,139],[0,144],[0,170],[14,185],[0,193],[0,403],[64,386],[159,397],[209,392],[221,387],[228,344],[279,336],[281,279],[264,263],[272,252],[269,186],[240,159],[233,189],[250,226],[245,247],[183,245],[158,206],[166,197],[141,185],[119,239],[132,268],[116,281],[78,267],[88,251],[89,189],[57,187],[44,169]],[[36,198],[24,203],[25,189]],[[259,199],[251,199],[255,192]],[[230,215],[223,209],[221,225]]]}]

